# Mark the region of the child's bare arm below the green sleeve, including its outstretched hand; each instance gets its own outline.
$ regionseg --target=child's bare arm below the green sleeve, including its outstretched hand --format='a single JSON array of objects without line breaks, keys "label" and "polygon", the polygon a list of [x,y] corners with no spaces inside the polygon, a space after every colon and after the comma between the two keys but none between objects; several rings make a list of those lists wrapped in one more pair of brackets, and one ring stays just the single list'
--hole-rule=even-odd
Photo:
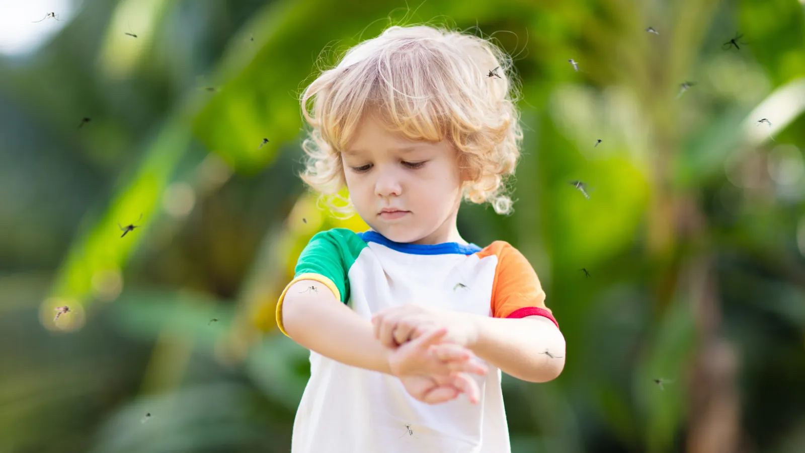
[{"label": "child's bare arm below the green sleeve, including its outstretched hand", "polygon": [[291,285],[281,310],[283,327],[291,339],[342,364],[393,376],[486,372],[483,364],[464,347],[437,345],[446,334],[440,329],[423,330],[421,341],[406,347],[384,347],[374,338],[371,322],[341,303],[319,281],[302,280]]}]

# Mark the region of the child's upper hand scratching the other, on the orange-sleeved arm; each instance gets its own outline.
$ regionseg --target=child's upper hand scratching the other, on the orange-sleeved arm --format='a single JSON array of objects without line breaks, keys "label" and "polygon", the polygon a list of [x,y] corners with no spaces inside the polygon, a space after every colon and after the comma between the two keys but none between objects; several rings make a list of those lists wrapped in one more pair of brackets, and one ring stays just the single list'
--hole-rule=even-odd
[{"label": "child's upper hand scratching the other, on the orange-sleeved arm", "polygon": [[468,346],[478,336],[472,317],[472,314],[409,304],[379,311],[372,317],[372,324],[375,338],[386,347],[397,347],[434,329],[447,329],[448,335],[443,341]]}]

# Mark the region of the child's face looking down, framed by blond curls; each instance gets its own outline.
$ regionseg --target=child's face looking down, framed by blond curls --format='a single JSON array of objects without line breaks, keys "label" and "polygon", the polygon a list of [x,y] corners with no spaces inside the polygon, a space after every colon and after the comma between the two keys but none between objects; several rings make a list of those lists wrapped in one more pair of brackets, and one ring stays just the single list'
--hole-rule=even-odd
[{"label": "child's face looking down, framed by blond curls", "polygon": [[461,201],[457,156],[447,140],[411,141],[386,129],[374,114],[365,114],[342,153],[357,214],[394,242],[461,241],[456,228]]}]

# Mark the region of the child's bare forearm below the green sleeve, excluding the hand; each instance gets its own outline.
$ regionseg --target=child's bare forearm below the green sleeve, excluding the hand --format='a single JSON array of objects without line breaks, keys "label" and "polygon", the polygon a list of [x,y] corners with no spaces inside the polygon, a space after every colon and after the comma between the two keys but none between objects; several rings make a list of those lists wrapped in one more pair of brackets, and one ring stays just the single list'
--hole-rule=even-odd
[{"label": "child's bare forearm below the green sleeve, excluding the hand", "polygon": [[[316,285],[318,291],[299,295]],[[391,374],[390,350],[374,338],[372,323],[338,301],[324,285],[299,281],[287,291],[283,326],[296,343],[342,364]]]}]

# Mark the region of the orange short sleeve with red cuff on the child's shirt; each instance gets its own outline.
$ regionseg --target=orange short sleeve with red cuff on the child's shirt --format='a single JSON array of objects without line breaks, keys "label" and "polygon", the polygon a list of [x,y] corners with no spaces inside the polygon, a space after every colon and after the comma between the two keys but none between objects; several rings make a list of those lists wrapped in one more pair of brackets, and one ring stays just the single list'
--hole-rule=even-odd
[{"label": "orange short sleeve with red cuff on the child's shirt", "polygon": [[551,309],[545,306],[545,291],[537,272],[518,249],[505,241],[495,241],[477,253],[481,258],[497,256],[491,301],[494,318],[537,315],[550,319],[559,327]]}]

